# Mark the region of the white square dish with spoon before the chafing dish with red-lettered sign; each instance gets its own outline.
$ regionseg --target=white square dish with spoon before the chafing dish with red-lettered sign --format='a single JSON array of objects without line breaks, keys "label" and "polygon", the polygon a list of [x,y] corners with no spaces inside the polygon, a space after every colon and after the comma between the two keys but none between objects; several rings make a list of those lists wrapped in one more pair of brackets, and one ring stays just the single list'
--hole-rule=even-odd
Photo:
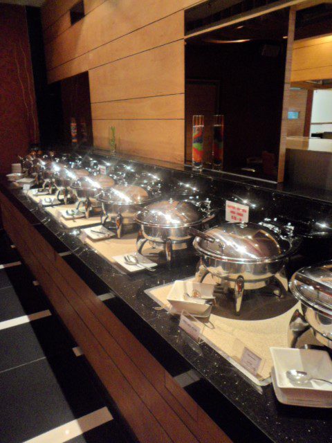
[{"label": "white square dish with spoon before the chafing dish with red-lettered sign", "polygon": [[[211,312],[211,305],[207,304],[207,298],[190,298],[188,299],[185,296],[185,293],[192,293],[194,282],[186,281],[186,280],[176,280],[172,284],[172,288],[170,289],[167,300],[169,303],[181,313],[181,311],[187,311],[189,314],[194,316],[208,316]],[[210,284],[208,286],[214,286]],[[188,292],[188,289],[190,292]],[[203,290],[200,291],[203,295]],[[213,292],[213,290],[212,290]],[[213,299],[212,293],[205,288],[205,297],[210,296],[208,300]]]}]

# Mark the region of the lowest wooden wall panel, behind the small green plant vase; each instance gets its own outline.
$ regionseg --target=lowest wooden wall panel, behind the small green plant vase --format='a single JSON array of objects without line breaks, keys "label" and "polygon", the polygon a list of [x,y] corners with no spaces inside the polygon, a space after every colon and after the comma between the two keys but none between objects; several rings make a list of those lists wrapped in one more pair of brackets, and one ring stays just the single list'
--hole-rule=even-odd
[{"label": "lowest wooden wall panel, behind the small green plant vase", "polygon": [[183,163],[184,120],[93,120],[93,138],[109,149],[109,127],[116,127],[118,152]]}]

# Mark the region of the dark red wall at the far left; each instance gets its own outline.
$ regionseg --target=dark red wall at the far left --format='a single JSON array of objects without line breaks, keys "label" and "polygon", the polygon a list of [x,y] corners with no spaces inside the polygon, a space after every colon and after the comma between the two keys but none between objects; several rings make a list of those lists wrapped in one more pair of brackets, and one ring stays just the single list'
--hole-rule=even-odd
[{"label": "dark red wall at the far left", "polygon": [[0,172],[38,141],[26,10],[0,4]]}]

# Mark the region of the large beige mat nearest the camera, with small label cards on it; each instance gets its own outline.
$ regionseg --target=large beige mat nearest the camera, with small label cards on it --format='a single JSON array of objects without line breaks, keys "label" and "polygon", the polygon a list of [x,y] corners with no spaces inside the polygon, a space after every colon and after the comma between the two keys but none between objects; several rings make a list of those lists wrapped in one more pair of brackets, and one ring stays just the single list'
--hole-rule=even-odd
[{"label": "large beige mat nearest the camera, with small label cards on it", "polygon": [[[154,287],[145,292],[168,311],[171,305],[167,301],[167,295],[171,287],[172,283]],[[233,320],[216,314],[211,314],[208,320],[203,318],[196,320],[202,323],[202,327],[204,325],[201,332],[203,341],[225,356],[257,385],[265,386],[270,383],[270,372],[273,368],[270,347],[288,347],[288,324],[298,307],[299,303],[281,316],[266,320]],[[240,364],[244,347],[255,352],[262,359],[259,374],[256,376],[250,374]]]}]

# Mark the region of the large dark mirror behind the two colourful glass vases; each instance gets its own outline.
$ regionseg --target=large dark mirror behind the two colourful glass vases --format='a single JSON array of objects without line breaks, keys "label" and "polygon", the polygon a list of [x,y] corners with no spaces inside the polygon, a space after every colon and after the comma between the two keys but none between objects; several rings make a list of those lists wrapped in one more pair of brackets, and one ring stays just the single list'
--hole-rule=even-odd
[{"label": "large dark mirror behind the two colourful glass vases", "polygon": [[204,116],[203,161],[212,166],[214,115],[223,116],[218,168],[277,180],[289,9],[197,35],[185,46],[185,159],[192,116]]}]

